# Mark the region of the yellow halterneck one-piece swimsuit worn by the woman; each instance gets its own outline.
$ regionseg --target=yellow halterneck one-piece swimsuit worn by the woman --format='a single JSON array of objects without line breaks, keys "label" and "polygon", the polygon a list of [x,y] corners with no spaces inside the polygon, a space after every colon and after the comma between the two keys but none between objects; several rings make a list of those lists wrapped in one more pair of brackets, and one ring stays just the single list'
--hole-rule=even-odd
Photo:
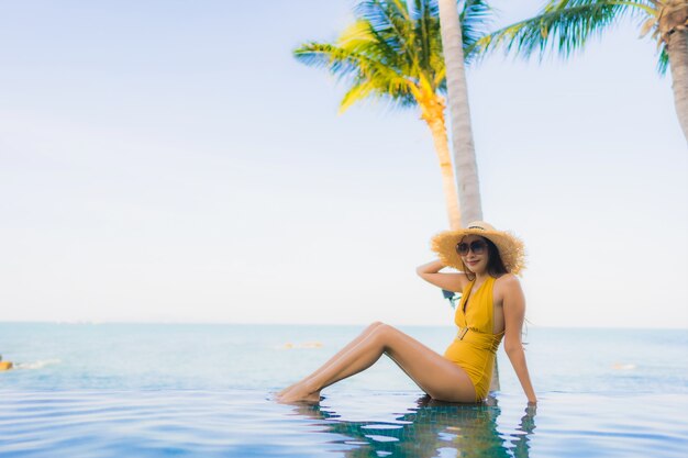
[{"label": "yellow halterneck one-piece swimsuit worn by the woman", "polygon": [[[444,351],[444,357],[468,373],[476,389],[476,401],[480,401],[487,396],[490,389],[495,353],[504,333],[492,334],[495,278],[488,277],[477,291],[470,291],[474,283],[475,280],[464,288],[454,316],[458,334]],[[470,305],[464,312],[468,295]]]}]

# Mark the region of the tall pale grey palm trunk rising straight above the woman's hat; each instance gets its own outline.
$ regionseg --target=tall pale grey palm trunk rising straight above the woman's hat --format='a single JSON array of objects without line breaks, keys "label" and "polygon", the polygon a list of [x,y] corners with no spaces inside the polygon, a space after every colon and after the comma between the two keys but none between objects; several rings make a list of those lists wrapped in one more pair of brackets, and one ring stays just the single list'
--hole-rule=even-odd
[{"label": "tall pale grey palm trunk rising straight above the woman's hat", "polygon": [[440,30],[446,66],[450,113],[452,115],[452,145],[454,168],[458,185],[458,204],[462,223],[482,220],[482,204],[478,182],[478,165],[470,127],[466,69],[462,30],[456,0],[440,0]]}]

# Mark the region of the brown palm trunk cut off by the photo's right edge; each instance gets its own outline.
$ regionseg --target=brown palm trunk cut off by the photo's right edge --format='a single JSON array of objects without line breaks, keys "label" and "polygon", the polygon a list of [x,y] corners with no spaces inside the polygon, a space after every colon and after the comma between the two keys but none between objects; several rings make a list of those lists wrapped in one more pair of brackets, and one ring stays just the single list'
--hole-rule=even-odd
[{"label": "brown palm trunk cut off by the photo's right edge", "polygon": [[688,30],[674,30],[667,40],[667,52],[672,67],[676,114],[688,141]]}]

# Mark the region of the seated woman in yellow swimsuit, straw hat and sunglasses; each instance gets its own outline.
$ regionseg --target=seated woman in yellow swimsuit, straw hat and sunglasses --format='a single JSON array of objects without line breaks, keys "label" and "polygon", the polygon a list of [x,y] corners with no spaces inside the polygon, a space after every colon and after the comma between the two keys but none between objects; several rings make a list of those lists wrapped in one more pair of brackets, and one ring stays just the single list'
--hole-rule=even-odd
[{"label": "seated woman in yellow swimsuit, straw hat and sunglasses", "polygon": [[[389,325],[373,323],[315,372],[278,393],[277,400],[319,402],[320,390],[387,355],[431,398],[479,402],[488,394],[495,353],[503,337],[528,401],[535,403],[521,343],[525,300],[515,277],[523,267],[521,241],[478,221],[436,235],[432,249],[440,259],[420,266],[418,275],[463,293],[455,316],[459,331],[444,356]],[[459,272],[440,272],[447,266]]]}]

